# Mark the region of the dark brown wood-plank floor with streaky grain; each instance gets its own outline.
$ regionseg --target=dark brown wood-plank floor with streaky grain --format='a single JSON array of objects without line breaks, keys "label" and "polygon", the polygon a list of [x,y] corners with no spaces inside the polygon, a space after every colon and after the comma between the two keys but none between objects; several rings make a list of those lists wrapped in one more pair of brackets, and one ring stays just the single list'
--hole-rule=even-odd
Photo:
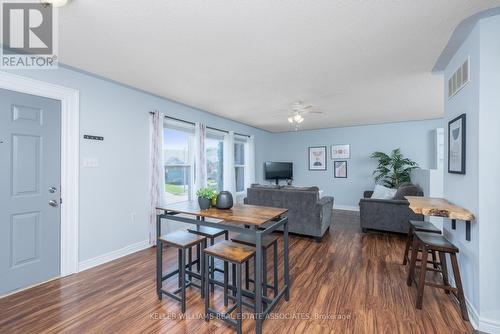
[{"label": "dark brown wood-plank floor with streaky grain", "polygon": [[[321,243],[291,237],[291,299],[264,321],[264,333],[473,332],[442,290],[426,288],[423,309],[415,309],[416,288],[406,286],[401,265],[403,237],[362,234],[357,219],[336,212]],[[167,249],[165,266],[170,270],[175,261]],[[214,303],[222,307],[221,289]],[[0,299],[2,334],[233,332],[221,321],[202,319],[196,288],[188,290],[184,316],[177,302],[156,296],[153,248]],[[254,332],[253,320],[244,320],[244,332]]]}]

